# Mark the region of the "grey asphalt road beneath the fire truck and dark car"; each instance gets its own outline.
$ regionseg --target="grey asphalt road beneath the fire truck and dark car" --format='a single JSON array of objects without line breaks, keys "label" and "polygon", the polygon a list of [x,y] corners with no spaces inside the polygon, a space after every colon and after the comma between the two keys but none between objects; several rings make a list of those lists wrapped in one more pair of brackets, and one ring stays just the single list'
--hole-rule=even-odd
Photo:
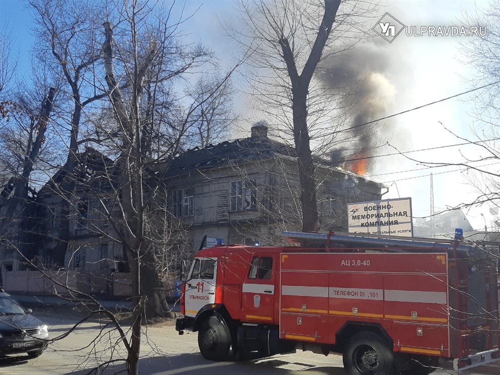
[{"label": "grey asphalt road beneath the fire truck and dark car", "polygon": [[[50,326],[51,337],[67,332],[72,320],[65,318],[45,318]],[[327,357],[310,352],[276,355],[266,359],[245,362],[212,362],[198,352],[196,334],[179,336],[173,326],[147,327],[147,336],[141,346],[140,373],[148,375],[221,375],[256,374],[283,375],[344,375],[342,357]],[[100,333],[101,332],[101,333]],[[96,339],[99,337],[98,339]],[[68,337],[50,345],[42,356],[29,359],[17,356],[0,361],[0,375],[83,375],[98,362],[109,358],[123,358],[125,351],[117,344],[117,334],[113,329],[98,322],[85,323]],[[460,371],[460,375],[498,375],[500,367],[482,366],[473,370]],[[104,373],[112,374],[123,366],[108,368]],[[437,370],[436,375],[455,373],[452,370]]]}]

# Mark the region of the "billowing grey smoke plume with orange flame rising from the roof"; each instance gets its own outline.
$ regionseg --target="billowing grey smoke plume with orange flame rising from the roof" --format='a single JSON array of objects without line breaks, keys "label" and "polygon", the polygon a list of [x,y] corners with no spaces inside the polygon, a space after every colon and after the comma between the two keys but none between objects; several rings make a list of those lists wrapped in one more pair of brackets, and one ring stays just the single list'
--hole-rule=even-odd
[{"label": "billowing grey smoke plume with orange flame rising from the roof", "polygon": [[[339,161],[349,170],[366,174],[376,147],[391,132],[391,122],[370,123],[390,114],[396,89],[389,80],[391,66],[386,47],[359,44],[352,52],[332,55],[321,67],[318,78],[325,87],[340,95],[340,108],[349,123],[342,141],[346,146],[330,151],[333,162]],[[366,124],[370,123],[370,124]]]}]

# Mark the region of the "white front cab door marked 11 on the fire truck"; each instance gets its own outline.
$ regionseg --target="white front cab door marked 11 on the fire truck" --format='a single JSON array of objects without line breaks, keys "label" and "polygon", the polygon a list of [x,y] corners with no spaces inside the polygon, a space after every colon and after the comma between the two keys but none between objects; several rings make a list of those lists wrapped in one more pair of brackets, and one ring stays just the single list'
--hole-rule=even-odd
[{"label": "white front cab door marked 11 on the fire truck", "polygon": [[186,316],[196,316],[206,304],[215,302],[216,258],[196,258],[186,281]]}]

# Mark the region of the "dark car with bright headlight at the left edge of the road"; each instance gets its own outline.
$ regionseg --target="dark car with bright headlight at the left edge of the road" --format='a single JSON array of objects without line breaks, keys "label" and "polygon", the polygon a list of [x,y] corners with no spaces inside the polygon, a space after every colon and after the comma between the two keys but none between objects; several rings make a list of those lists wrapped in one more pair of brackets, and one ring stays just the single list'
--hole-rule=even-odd
[{"label": "dark car with bright headlight at the left edge of the road", "polygon": [[47,325],[25,310],[14,298],[0,289],[0,357],[28,353],[38,357],[49,339]]}]

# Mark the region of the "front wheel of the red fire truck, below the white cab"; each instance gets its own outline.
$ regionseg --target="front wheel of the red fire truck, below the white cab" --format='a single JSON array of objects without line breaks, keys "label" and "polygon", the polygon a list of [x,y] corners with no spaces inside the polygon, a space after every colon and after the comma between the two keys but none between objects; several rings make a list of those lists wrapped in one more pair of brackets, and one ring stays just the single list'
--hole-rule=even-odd
[{"label": "front wheel of the red fire truck, below the white cab", "polygon": [[198,331],[201,355],[209,360],[224,360],[229,353],[230,345],[231,335],[216,316],[209,316],[203,320]]}]

